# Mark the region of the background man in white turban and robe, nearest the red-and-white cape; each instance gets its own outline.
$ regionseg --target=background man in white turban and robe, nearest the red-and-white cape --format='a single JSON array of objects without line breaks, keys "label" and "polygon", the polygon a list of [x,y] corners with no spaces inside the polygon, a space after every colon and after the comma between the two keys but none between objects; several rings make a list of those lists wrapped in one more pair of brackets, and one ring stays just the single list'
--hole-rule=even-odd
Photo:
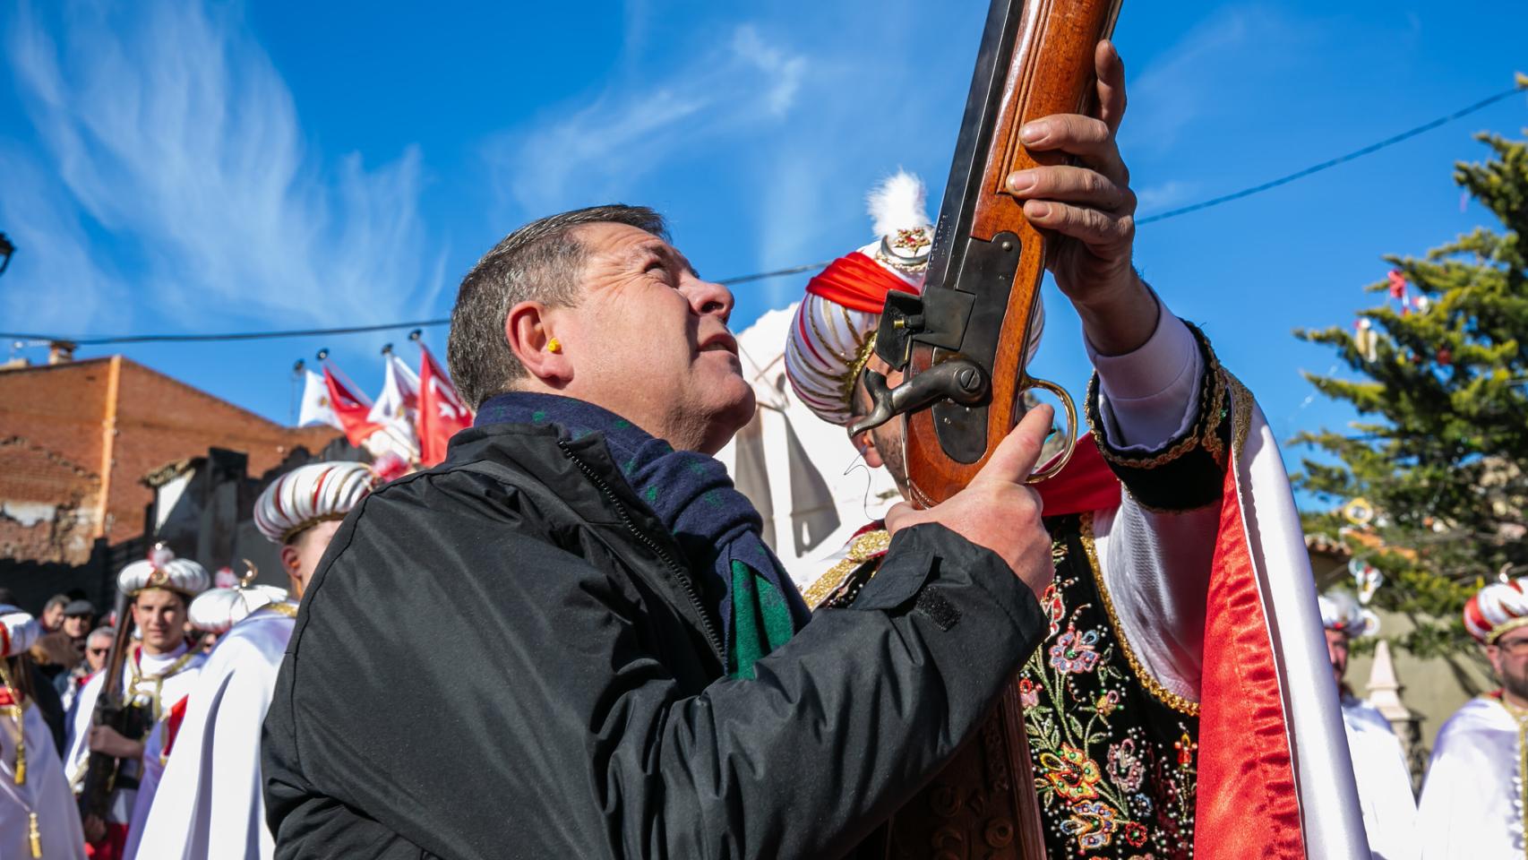
[{"label": "background man in white turban and robe, nearest the red-and-white cape", "polygon": [[1348,733],[1352,773],[1358,781],[1358,802],[1363,805],[1363,828],[1369,848],[1380,860],[1412,860],[1416,857],[1416,797],[1406,767],[1401,739],[1390,721],[1372,704],[1354,695],[1343,680],[1348,674],[1348,648],[1354,639],[1374,635],[1380,619],[1358,605],[1346,591],[1328,591],[1319,599],[1322,626],[1326,628],[1326,654],[1337,680],[1342,721]]}]

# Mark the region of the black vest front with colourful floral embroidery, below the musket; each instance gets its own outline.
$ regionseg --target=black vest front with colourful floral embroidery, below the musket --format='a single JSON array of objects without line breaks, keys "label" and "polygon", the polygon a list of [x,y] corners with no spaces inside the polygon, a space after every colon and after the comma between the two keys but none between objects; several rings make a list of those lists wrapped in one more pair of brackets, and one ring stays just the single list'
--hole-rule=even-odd
[{"label": "black vest front with colourful floral embroidery, below the musket", "polygon": [[1193,855],[1198,721],[1152,700],[1120,651],[1074,519],[1051,527],[1051,637],[1019,677],[1051,857]]}]

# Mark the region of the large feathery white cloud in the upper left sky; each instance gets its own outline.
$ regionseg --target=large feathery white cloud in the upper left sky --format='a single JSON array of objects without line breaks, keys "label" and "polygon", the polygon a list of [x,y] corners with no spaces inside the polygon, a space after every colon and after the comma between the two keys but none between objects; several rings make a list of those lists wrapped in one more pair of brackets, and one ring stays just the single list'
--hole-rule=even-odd
[{"label": "large feathery white cloud in the upper left sky", "polygon": [[[144,318],[376,321],[439,290],[419,218],[419,150],[374,168],[359,154],[322,163],[237,9],[81,5],[52,24],[46,11],[17,8],[6,53],[40,159],[58,179],[34,176],[28,194],[6,196],[5,212],[9,223],[43,214],[73,229],[29,228],[37,275],[17,270],[18,283],[67,272],[84,223],[128,258],[118,292]],[[78,276],[105,290],[99,270]],[[67,328],[96,322],[76,316]]]}]

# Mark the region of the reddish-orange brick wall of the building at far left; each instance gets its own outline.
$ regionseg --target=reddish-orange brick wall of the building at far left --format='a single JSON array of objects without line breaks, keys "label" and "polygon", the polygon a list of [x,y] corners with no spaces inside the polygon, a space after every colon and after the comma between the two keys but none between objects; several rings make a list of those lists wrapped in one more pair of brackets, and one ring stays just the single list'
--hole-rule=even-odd
[{"label": "reddish-orange brick wall of the building at far left", "polygon": [[121,357],[0,370],[0,558],[81,564],[90,538],[118,544],[142,533],[148,472],[228,448],[249,454],[251,474],[261,474],[295,448],[318,451],[338,435],[284,428]]}]

